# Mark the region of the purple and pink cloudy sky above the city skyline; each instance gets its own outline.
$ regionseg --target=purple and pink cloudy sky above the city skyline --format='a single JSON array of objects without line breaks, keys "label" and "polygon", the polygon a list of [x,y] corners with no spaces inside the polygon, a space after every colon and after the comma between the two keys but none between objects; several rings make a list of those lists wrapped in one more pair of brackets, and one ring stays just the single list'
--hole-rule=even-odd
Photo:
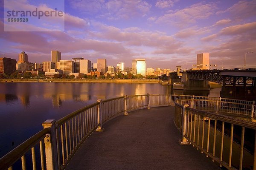
[{"label": "purple and pink cloudy sky above the city skyline", "polygon": [[[13,1],[0,0],[0,57],[18,60],[25,51],[29,62],[43,62],[58,50],[61,59],[105,58],[107,65],[131,67],[132,59],[143,58],[147,68],[174,70],[192,68],[200,53],[210,53],[210,64],[218,68],[243,68],[245,54],[254,51],[246,55],[246,68],[256,68],[256,0]],[[12,28],[27,31],[10,31],[4,19],[8,5],[58,7],[64,26],[48,17],[34,25],[14,23]]]}]

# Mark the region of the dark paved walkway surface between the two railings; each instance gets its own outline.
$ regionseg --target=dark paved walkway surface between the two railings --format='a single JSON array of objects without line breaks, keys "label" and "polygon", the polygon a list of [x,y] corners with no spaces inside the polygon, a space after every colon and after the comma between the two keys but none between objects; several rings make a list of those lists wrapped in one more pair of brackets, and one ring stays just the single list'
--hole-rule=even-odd
[{"label": "dark paved walkway surface between the two railings", "polygon": [[66,170],[219,170],[191,145],[178,144],[174,107],[130,112],[94,132]]}]

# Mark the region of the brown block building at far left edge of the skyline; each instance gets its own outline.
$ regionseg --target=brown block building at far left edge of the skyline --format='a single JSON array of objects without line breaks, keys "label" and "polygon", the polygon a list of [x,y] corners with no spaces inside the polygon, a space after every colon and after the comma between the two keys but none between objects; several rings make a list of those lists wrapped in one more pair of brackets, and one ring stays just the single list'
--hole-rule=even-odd
[{"label": "brown block building at far left edge of the skyline", "polygon": [[0,58],[0,73],[12,74],[16,71],[16,59]]}]

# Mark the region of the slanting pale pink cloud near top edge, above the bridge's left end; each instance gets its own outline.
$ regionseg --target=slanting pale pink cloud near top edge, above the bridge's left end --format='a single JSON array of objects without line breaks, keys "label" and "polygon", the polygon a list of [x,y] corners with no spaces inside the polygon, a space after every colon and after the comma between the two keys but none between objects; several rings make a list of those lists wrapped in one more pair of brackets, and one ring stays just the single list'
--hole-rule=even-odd
[{"label": "slanting pale pink cloud near top edge, above the bridge's left end", "polygon": [[184,26],[196,23],[197,20],[209,18],[211,15],[215,14],[216,8],[215,3],[197,3],[180,10],[170,10],[159,17],[156,23],[175,25],[183,28]]}]

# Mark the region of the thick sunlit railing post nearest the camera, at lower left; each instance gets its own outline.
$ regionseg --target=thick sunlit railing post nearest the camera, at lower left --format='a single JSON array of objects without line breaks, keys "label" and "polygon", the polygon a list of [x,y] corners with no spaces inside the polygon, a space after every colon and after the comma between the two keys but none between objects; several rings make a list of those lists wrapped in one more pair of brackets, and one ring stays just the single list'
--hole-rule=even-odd
[{"label": "thick sunlit railing post nearest the camera, at lower left", "polygon": [[56,130],[55,130],[55,120],[49,119],[42,123],[45,128],[50,128],[50,134],[46,134],[44,138],[45,146],[45,159],[46,159],[46,169],[47,170],[58,170],[58,156],[57,156],[57,141],[56,141]]}]

